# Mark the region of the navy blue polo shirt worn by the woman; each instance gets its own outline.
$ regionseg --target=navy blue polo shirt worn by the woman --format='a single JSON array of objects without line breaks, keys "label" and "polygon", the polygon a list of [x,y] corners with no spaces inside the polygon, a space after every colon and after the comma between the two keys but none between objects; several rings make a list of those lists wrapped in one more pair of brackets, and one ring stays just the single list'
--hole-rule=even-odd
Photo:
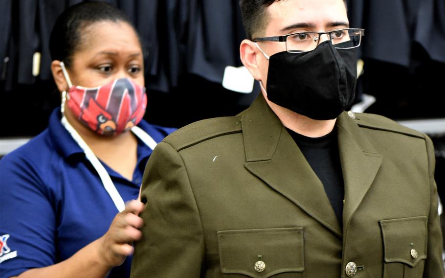
[{"label": "navy blue polo shirt worn by the woman", "polygon": [[[60,109],[56,109],[44,132],[0,160],[2,278],[69,258],[105,234],[118,213],[60,117]],[[156,142],[175,130],[144,120],[138,126]],[[125,202],[137,198],[151,153],[138,139],[132,181],[102,163]],[[130,266],[128,257],[109,277],[129,277]]]}]

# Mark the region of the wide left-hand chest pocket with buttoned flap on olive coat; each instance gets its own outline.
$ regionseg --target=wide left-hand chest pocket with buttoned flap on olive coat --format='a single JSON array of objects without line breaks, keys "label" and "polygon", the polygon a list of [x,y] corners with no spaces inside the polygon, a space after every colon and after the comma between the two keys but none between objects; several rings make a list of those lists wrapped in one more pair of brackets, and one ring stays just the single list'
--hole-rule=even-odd
[{"label": "wide left-hand chest pocket with buttoned flap on olive coat", "polygon": [[224,278],[302,278],[303,228],[218,232]]}]

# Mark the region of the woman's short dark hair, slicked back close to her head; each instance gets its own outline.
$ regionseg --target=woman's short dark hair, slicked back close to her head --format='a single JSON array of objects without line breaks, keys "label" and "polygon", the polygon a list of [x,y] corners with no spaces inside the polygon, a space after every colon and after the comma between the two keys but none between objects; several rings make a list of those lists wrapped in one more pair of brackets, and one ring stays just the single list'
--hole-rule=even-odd
[{"label": "woman's short dark hair, slicked back close to her head", "polygon": [[[84,28],[90,23],[103,21],[124,22],[133,27],[127,16],[109,3],[87,1],[68,7],[57,18],[51,31],[49,38],[51,59],[63,61],[69,68],[73,54],[83,43]],[[134,31],[136,32],[135,29]]]}]

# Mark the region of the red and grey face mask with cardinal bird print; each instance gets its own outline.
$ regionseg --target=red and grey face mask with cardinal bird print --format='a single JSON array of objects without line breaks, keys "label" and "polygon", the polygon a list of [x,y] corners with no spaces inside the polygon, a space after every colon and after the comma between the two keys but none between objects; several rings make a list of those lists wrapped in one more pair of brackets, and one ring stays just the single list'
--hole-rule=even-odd
[{"label": "red and grey face mask with cardinal bird print", "polygon": [[[67,74],[65,78],[69,80]],[[70,86],[67,104],[74,116],[96,133],[117,135],[141,121],[147,95],[145,88],[130,78],[119,78],[96,88]]]}]

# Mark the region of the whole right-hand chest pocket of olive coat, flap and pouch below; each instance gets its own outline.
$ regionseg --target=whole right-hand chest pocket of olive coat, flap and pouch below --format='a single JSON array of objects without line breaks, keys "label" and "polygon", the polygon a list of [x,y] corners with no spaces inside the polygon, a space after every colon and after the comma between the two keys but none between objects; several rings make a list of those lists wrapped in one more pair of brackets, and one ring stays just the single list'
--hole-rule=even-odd
[{"label": "whole right-hand chest pocket of olive coat, flap and pouch below", "polygon": [[426,216],[381,220],[383,278],[423,277],[426,258]]}]

